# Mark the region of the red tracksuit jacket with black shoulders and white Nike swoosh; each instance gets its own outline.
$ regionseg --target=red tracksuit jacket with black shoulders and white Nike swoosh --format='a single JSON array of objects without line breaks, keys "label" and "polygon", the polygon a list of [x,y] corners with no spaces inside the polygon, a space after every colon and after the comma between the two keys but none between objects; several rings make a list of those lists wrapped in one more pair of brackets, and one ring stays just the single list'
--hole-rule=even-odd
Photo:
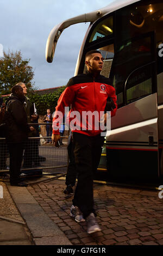
[{"label": "red tracksuit jacket with black shoulders and white Nike swoosh", "polygon": [[[58,128],[60,127],[60,123],[62,123],[57,111],[62,112],[64,115],[65,107],[69,106],[71,106],[69,121],[70,123],[72,121],[73,124],[76,124],[76,129],[73,127],[72,132],[79,132],[88,136],[96,136],[101,133],[101,129],[96,130],[95,118],[93,117],[91,123],[91,119],[83,119],[83,113],[88,111],[91,111],[91,113],[94,111],[100,113],[100,111],[104,111],[108,97],[112,98],[116,106],[116,108],[111,111],[111,116],[113,116],[116,113],[117,103],[115,88],[110,86],[109,78],[98,75],[94,79],[89,72],[72,77],[67,83],[67,88],[59,97],[58,105],[55,108],[53,134],[59,134]],[[79,115],[74,111],[78,111]]]}]

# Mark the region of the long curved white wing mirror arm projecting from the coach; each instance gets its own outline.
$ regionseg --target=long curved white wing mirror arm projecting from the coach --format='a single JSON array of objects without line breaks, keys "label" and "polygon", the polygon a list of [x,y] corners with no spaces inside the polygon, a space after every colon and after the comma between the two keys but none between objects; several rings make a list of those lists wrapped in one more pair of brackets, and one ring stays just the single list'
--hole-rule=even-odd
[{"label": "long curved white wing mirror arm projecting from the coach", "polygon": [[70,27],[71,25],[82,23],[82,22],[93,22],[96,21],[99,17],[102,17],[104,14],[108,12],[108,8],[104,7],[101,10],[92,11],[91,13],[82,14],[72,19],[68,19],[59,25],[55,26],[51,33],[48,36],[47,43],[46,43],[46,60],[47,62],[53,62],[53,57],[55,53],[55,48],[61,35],[62,31],[65,28]]}]

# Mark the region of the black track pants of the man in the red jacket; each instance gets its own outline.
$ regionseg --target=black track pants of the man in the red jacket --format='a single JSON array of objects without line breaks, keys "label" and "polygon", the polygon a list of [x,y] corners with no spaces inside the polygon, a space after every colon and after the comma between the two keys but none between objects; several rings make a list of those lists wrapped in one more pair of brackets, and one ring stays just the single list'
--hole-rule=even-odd
[{"label": "black track pants of the man in the red jacket", "polygon": [[79,207],[86,218],[93,209],[93,172],[96,172],[101,158],[104,137],[87,136],[73,132],[74,157],[78,173],[78,183],[73,205]]}]

